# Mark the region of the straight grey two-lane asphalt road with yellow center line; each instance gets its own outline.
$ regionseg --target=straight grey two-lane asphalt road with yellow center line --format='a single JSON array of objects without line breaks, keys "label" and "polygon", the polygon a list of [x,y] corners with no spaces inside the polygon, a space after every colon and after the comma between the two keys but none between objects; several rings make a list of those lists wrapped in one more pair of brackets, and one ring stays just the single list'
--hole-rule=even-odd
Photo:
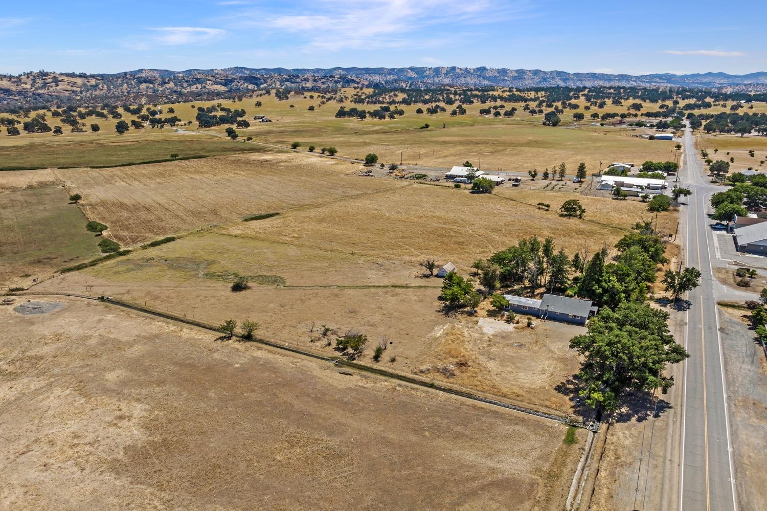
[{"label": "straight grey two-lane asphalt road with yellow center line", "polygon": [[693,195],[680,221],[686,231],[686,266],[700,269],[700,286],[690,292],[683,342],[690,358],[685,362],[680,510],[736,511],[732,441],[729,432],[726,381],[719,338],[719,315],[714,295],[715,278],[709,246],[711,229],[707,198],[715,186],[706,183],[690,130],[684,136],[685,160],[681,176]]}]

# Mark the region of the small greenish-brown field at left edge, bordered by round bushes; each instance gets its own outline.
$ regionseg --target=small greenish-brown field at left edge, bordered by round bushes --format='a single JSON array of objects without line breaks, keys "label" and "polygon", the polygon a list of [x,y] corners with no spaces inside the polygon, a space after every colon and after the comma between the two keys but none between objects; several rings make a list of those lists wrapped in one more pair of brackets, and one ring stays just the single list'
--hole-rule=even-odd
[{"label": "small greenish-brown field at left edge, bordered by round bushes", "polygon": [[52,176],[14,177],[0,186],[0,285],[28,285],[99,252],[99,238],[85,230],[87,219]]}]

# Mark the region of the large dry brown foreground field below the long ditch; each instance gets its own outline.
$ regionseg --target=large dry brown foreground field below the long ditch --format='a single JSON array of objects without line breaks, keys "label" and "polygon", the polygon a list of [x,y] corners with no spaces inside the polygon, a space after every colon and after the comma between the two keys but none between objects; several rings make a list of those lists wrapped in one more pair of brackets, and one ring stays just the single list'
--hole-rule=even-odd
[{"label": "large dry brown foreground field below the long ditch", "polygon": [[5,509],[564,506],[581,431],[61,302],[0,308]]}]

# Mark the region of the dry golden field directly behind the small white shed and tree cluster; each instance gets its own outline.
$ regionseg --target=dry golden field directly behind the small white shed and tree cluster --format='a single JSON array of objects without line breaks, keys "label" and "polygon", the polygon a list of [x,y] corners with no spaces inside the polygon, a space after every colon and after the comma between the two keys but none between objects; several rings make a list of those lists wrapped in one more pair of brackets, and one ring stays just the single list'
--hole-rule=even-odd
[{"label": "dry golden field directly behind the small white shed and tree cluster", "polygon": [[[562,219],[557,210],[578,198],[583,220]],[[546,212],[534,205],[551,203]],[[614,244],[637,220],[648,216],[636,201],[574,193],[505,187],[492,195],[466,189],[413,184],[342,203],[319,206],[258,222],[222,227],[220,232],[298,246],[377,256],[393,261],[452,261],[468,269],[476,259],[532,235],[552,236],[557,246],[574,252],[589,242],[594,250]]]}]

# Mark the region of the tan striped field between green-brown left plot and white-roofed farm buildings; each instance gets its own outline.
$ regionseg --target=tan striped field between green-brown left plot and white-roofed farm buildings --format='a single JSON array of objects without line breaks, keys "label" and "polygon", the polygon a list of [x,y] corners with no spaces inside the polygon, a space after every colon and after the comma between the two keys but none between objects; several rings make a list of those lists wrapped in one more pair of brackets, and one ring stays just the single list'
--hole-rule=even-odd
[{"label": "tan striped field between green-brown left plot and white-roofed farm buildings", "polygon": [[348,163],[251,153],[112,169],[56,170],[89,219],[123,246],[245,216],[285,212],[397,186],[345,178]]}]

